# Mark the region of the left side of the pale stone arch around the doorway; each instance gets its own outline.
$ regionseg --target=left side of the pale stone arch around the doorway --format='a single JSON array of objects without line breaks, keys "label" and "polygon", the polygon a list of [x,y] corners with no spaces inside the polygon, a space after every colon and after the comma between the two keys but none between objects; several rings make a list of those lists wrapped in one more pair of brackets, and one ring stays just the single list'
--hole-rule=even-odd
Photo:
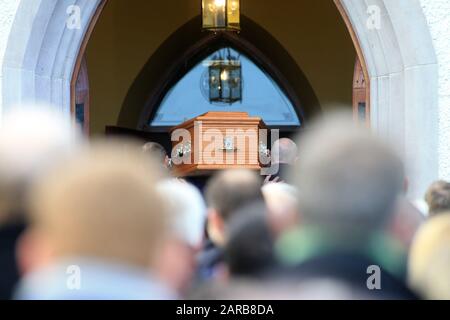
[{"label": "left side of the pale stone arch around the doorway", "polygon": [[[102,0],[20,2],[2,66],[3,111],[38,103],[70,117],[74,70],[91,22],[103,4]],[[78,21],[69,27],[73,14]]]}]

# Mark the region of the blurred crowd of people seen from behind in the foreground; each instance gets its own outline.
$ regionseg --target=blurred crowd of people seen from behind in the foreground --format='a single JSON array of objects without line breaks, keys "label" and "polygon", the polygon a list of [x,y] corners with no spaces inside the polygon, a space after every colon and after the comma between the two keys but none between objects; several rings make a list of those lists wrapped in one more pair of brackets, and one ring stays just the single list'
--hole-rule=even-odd
[{"label": "blurred crowd of people seen from behind in the foreground", "polygon": [[411,202],[400,156],[343,114],[271,157],[200,191],[157,143],[5,116],[0,299],[450,299],[450,183]]}]

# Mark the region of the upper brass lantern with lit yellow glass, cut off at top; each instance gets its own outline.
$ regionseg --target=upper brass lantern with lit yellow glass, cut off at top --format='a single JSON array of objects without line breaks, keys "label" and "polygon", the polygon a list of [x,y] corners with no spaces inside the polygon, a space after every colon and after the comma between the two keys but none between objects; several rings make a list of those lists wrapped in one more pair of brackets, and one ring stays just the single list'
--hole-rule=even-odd
[{"label": "upper brass lantern with lit yellow glass, cut off at top", "polygon": [[202,0],[203,29],[239,31],[240,9],[240,0]]}]

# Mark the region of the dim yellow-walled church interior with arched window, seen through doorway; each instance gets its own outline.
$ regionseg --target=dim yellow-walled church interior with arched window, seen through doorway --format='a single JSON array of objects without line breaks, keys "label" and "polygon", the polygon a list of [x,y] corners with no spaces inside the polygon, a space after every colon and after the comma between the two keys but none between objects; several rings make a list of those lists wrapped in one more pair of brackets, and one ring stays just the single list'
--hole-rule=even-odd
[{"label": "dim yellow-walled church interior with arched window, seen through doorway", "polygon": [[[274,17],[267,4],[246,1],[242,32],[237,35],[202,32],[200,8],[196,5],[183,5],[184,12],[173,14],[166,4],[155,8],[155,3],[148,3],[137,1],[134,8],[127,10],[120,2],[106,4],[87,43],[84,53],[89,70],[93,134],[101,134],[105,127],[155,134],[167,131],[175,122],[161,125],[160,121],[160,125],[155,125],[154,117],[163,114],[158,113],[163,102],[174,101],[174,96],[168,93],[179,89],[178,82],[184,77],[197,72],[198,79],[191,81],[190,92],[195,87],[196,98],[202,97],[201,72],[194,69],[226,47],[247,59],[245,63],[251,63],[247,70],[266,76],[266,84],[273,84],[278,100],[258,96],[258,84],[260,93],[270,92],[264,90],[265,82],[254,83],[250,80],[254,74],[244,74],[244,101],[240,107],[237,104],[222,107],[224,111],[244,111],[242,108],[248,105],[252,115],[264,116],[265,112],[267,116],[272,112],[278,119],[269,120],[268,125],[291,135],[324,111],[342,106],[351,108],[357,54],[345,22],[332,2],[318,5],[288,1]],[[150,14],[144,18],[140,12],[148,12],[147,7],[158,9],[159,16]],[[301,22],[296,21],[300,31],[292,27],[293,12],[304,17]],[[162,24],[162,20],[173,21]],[[308,29],[311,25],[314,30]],[[260,114],[255,107],[257,99],[263,101]],[[192,101],[195,103],[192,109],[205,109],[198,101],[204,102]],[[170,114],[168,109],[166,106],[164,114]],[[183,114],[183,108],[173,105],[172,114],[179,111],[182,120],[196,114],[192,109]],[[218,106],[211,105],[210,109],[214,111]]]}]

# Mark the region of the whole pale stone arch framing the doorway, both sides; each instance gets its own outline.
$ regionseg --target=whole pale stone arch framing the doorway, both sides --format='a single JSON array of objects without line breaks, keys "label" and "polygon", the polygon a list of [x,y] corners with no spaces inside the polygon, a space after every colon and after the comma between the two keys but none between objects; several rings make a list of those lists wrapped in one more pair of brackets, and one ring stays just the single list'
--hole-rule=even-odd
[{"label": "whole pale stone arch framing the doorway, both sides", "polygon": [[[20,2],[2,66],[3,110],[46,103],[70,116],[77,59],[104,1]],[[335,2],[367,69],[371,125],[406,157],[410,195],[419,197],[439,169],[438,65],[420,1]],[[71,5],[80,8],[78,29],[66,26]],[[368,27],[374,13],[379,28]]]}]

